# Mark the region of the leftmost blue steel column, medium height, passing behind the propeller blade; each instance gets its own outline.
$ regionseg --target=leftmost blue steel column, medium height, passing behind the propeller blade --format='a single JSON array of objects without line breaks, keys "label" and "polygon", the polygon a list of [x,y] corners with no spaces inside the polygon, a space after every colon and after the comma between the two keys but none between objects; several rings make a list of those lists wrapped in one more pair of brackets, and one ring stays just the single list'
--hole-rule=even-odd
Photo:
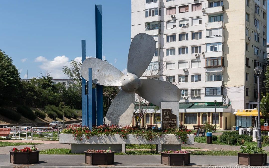
[{"label": "leftmost blue steel column, medium height, passing behind the propeller blade", "polygon": [[[81,61],[83,63],[83,61],[86,59],[86,41],[85,40],[81,40]],[[82,126],[88,126],[87,124],[87,118],[86,118],[86,80],[82,77]]]}]

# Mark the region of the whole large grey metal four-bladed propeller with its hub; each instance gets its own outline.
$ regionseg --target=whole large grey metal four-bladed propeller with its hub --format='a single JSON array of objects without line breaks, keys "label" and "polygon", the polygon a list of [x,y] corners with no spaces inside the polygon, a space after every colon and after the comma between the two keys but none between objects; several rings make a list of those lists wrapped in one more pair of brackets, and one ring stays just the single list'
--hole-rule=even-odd
[{"label": "whole large grey metal four-bladed propeller with its hub", "polygon": [[131,123],[135,93],[157,106],[161,106],[161,102],[180,100],[180,90],[176,85],[161,80],[139,79],[150,64],[155,48],[155,40],[150,35],[139,33],[134,36],[129,49],[126,75],[97,58],[88,58],[82,63],[81,75],[84,79],[89,80],[88,68],[91,67],[92,83],[120,86],[122,89],[108,109],[106,124],[126,126]]}]

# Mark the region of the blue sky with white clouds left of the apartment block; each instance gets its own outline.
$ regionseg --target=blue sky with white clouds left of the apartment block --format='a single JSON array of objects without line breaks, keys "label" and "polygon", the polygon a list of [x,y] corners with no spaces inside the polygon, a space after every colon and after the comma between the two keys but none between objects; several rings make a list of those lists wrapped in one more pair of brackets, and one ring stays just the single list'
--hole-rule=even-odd
[{"label": "blue sky with white clouds left of the apartment block", "polygon": [[103,57],[119,70],[127,67],[131,31],[130,0],[1,1],[0,49],[12,57],[21,78],[49,71],[66,78],[64,65],[95,57],[95,4],[102,5]]}]

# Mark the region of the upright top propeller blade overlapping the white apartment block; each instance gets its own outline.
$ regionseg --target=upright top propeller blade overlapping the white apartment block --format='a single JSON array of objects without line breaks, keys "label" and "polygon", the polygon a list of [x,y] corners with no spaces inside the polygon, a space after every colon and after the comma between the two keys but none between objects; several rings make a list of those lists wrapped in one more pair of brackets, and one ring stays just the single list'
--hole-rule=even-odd
[{"label": "upright top propeller blade overlapping the white apartment block", "polygon": [[139,33],[134,36],[129,49],[128,72],[140,78],[150,64],[155,49],[156,42],[150,35]]}]

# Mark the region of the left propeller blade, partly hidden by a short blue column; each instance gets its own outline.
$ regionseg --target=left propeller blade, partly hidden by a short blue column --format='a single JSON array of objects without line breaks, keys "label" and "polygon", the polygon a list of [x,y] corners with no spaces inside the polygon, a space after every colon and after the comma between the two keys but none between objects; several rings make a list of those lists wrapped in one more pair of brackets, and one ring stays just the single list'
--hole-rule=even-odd
[{"label": "left propeller blade, partly hidden by a short blue column", "polygon": [[121,86],[124,74],[113,65],[98,59],[86,59],[80,69],[81,76],[89,81],[89,68],[92,68],[92,83],[104,86]]}]

